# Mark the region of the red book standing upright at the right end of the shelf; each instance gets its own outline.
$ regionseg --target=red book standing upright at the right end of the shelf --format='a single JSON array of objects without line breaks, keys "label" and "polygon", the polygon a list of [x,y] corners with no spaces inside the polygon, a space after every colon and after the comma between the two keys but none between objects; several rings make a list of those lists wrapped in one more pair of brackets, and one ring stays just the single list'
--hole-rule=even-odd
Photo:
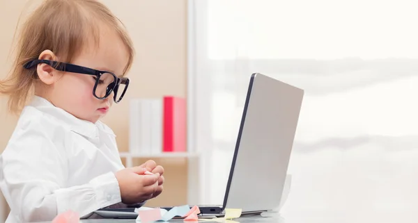
[{"label": "red book standing upright at the right end of the shelf", "polygon": [[162,151],[186,151],[186,100],[166,96],[163,106]]}]

